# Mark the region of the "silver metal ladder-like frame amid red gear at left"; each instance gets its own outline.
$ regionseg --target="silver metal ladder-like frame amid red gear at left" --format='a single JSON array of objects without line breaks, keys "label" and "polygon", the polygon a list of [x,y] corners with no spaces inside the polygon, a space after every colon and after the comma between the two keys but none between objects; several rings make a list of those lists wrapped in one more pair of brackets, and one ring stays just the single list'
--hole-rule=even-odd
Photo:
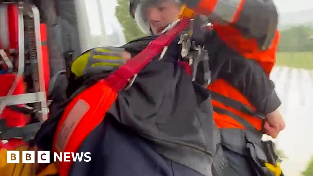
[{"label": "silver metal ladder-like frame amid red gear at left", "polygon": [[[35,32],[38,75],[39,75],[39,91],[36,91],[33,93],[12,95],[19,79],[23,76],[23,73],[24,73],[24,64],[25,64],[24,15],[30,15],[30,17],[33,18],[34,20],[34,32]],[[30,4],[18,3],[18,73],[7,96],[0,97],[0,114],[3,111],[4,107],[6,106],[40,102],[41,111],[39,111],[40,113],[39,120],[40,121],[47,120],[49,109],[47,107],[47,98],[46,98],[46,91],[45,91],[45,86],[44,86],[44,63],[41,58],[42,51],[41,51],[40,40],[41,40],[40,16],[39,16],[38,8]]]}]

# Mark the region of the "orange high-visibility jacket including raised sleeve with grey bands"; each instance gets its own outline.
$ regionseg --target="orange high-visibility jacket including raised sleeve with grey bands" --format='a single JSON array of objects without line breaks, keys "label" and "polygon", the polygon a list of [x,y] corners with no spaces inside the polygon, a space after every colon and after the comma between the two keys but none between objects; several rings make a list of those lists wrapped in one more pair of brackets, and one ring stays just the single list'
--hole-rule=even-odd
[{"label": "orange high-visibility jacket including raised sleeve with grey bands", "polygon": [[[275,65],[275,52],[279,41],[278,14],[272,0],[226,2],[182,0],[182,2],[197,13],[209,15],[218,38],[244,58],[257,61],[269,76]],[[242,92],[223,79],[215,80],[208,89],[212,94],[214,120],[218,128],[261,131],[263,126],[261,116],[264,117],[277,108],[258,109],[254,102],[249,101]],[[275,106],[279,105],[276,103]]]}]

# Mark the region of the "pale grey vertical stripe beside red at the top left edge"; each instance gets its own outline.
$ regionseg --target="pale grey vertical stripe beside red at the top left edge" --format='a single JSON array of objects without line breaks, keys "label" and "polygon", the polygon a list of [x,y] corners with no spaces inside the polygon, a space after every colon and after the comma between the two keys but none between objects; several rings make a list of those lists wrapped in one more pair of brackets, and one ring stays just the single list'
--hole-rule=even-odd
[{"label": "pale grey vertical stripe beside red at the top left edge", "polygon": [[1,49],[9,49],[8,4],[0,5],[0,40]]}]

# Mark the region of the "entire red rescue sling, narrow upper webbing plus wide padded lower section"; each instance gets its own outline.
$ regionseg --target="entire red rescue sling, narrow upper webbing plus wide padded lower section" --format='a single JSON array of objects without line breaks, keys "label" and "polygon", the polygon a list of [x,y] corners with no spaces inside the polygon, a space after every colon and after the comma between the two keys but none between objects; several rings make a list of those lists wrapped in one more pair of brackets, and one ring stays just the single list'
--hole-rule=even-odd
[{"label": "entire red rescue sling, narrow upper webbing plus wide padded lower section", "polygon": [[[183,18],[178,25],[152,41],[146,49],[119,67],[108,78],[98,81],[76,96],[64,109],[54,135],[53,151],[58,155],[60,152],[73,152],[75,155],[89,133],[103,121],[105,113],[117,98],[117,92],[188,27],[188,24],[189,18]],[[70,162],[59,163],[60,176],[69,174],[73,159],[70,157],[69,160]]]}]

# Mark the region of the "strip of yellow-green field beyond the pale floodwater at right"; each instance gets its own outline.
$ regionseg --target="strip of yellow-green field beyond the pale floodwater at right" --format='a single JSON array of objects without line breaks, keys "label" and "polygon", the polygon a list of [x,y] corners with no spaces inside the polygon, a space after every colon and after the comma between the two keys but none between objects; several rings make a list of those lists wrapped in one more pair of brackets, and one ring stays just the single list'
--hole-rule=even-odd
[{"label": "strip of yellow-green field beyond the pale floodwater at right", "polygon": [[313,70],[313,52],[278,52],[277,66]]}]

